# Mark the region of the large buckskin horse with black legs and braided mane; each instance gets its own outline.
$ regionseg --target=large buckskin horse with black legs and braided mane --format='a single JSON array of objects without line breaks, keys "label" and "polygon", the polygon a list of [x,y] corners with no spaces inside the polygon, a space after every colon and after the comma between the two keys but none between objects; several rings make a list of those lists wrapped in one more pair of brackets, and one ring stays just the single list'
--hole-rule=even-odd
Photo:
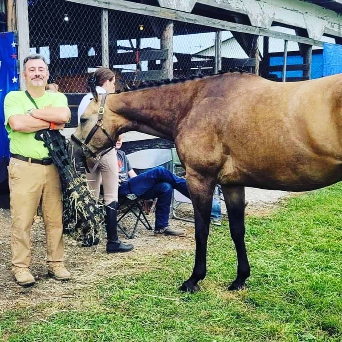
[{"label": "large buckskin horse with black legs and braided mane", "polygon": [[206,275],[212,194],[221,184],[238,259],[234,290],[250,275],[244,186],[303,191],[342,180],[341,94],[342,74],[277,83],[224,73],[103,95],[104,110],[92,101],[75,136],[87,156],[131,130],[175,142],[195,211],[195,266],[184,291],[199,290]]}]

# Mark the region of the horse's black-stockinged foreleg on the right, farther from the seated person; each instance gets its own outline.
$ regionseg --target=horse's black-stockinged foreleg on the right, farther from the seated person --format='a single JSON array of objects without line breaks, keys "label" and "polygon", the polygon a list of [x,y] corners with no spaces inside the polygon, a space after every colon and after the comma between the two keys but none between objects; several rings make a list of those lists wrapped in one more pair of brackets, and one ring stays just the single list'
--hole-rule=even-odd
[{"label": "horse's black-stockinged foreleg on the right, farther from the seated person", "polygon": [[227,207],[229,229],[237,254],[237,277],[228,290],[239,290],[246,285],[250,267],[245,246],[245,188],[221,185]]}]

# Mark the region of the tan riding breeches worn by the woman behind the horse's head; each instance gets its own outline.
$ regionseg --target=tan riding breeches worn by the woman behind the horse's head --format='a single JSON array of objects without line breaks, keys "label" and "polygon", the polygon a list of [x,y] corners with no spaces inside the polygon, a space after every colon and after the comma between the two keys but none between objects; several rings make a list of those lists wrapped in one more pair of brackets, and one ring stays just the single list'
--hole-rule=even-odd
[{"label": "tan riding breeches worn by the woman behind the horse's head", "polygon": [[100,196],[102,180],[104,203],[118,201],[119,171],[115,148],[101,158],[93,173],[87,172],[87,179],[96,198]]}]

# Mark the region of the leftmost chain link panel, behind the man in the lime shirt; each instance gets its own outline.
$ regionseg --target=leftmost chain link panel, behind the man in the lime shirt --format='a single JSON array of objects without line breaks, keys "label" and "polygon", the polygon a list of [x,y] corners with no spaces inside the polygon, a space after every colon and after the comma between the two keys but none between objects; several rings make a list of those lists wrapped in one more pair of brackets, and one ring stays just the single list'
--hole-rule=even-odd
[{"label": "leftmost chain link panel, behind the man in the lime shirt", "polygon": [[29,0],[30,52],[49,64],[62,92],[86,92],[89,67],[101,65],[99,8],[62,0]]}]

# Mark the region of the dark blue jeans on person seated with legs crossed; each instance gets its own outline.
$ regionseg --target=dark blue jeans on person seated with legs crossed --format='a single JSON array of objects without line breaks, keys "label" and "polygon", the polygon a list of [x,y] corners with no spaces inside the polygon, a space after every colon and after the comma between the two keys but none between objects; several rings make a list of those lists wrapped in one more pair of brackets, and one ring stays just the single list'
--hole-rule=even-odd
[{"label": "dark blue jeans on person seated with legs crossed", "polygon": [[158,198],[155,223],[155,230],[158,230],[169,225],[173,189],[190,198],[186,180],[159,166],[122,182],[118,194],[119,196],[134,194],[142,199]]}]

